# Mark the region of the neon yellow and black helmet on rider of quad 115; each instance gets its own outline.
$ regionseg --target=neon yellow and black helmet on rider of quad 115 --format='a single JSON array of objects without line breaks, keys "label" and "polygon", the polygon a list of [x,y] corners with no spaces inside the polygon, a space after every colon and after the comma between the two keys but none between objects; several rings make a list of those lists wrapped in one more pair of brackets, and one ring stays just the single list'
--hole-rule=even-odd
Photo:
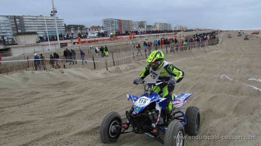
[{"label": "neon yellow and black helmet on rider of quad 115", "polygon": [[162,51],[156,50],[151,52],[150,56],[148,56],[148,59],[146,62],[150,62],[151,69],[156,71],[158,68],[160,68],[164,62],[164,54]]}]

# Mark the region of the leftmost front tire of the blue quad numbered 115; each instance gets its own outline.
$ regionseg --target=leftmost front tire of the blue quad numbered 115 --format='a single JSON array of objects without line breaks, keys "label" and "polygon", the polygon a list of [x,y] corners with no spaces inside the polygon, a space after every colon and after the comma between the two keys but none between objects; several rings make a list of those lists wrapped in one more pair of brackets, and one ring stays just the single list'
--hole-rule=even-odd
[{"label": "leftmost front tire of the blue quad numbered 115", "polygon": [[103,143],[115,143],[120,135],[117,133],[121,132],[122,123],[121,116],[117,112],[108,113],[100,123],[100,140]]}]

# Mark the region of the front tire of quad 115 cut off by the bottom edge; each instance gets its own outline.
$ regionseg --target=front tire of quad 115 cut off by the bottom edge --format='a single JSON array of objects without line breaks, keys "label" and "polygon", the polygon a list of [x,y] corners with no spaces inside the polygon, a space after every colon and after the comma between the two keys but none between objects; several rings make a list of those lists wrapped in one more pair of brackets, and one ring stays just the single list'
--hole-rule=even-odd
[{"label": "front tire of quad 115 cut off by the bottom edge", "polygon": [[180,121],[172,121],[165,133],[164,146],[183,146],[184,145],[184,128]]}]

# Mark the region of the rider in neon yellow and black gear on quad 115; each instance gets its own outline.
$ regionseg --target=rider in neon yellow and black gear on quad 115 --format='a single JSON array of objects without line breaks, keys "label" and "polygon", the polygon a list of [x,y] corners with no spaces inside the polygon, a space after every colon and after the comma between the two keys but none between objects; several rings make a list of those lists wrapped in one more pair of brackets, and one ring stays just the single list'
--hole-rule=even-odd
[{"label": "rider in neon yellow and black gear on quad 115", "polygon": [[154,92],[161,94],[163,93],[163,98],[167,98],[166,104],[166,112],[167,112],[167,125],[169,125],[173,121],[173,104],[171,101],[174,99],[173,90],[175,87],[175,83],[179,83],[183,77],[184,72],[174,67],[171,63],[164,61],[164,54],[162,51],[153,51],[146,62],[148,64],[140,73],[137,79],[134,79],[133,83],[137,84],[137,82],[142,82],[143,79],[150,75],[153,79],[156,80],[157,83],[162,81],[168,81],[168,84],[159,84],[154,87]]}]

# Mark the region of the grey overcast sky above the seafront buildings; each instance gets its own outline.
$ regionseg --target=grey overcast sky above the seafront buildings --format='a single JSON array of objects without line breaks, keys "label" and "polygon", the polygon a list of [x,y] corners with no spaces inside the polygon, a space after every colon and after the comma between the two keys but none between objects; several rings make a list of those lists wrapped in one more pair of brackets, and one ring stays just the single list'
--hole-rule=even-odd
[{"label": "grey overcast sky above the seafront buildings", "polygon": [[[64,23],[102,26],[115,18],[220,30],[261,28],[261,0],[54,0]],[[52,0],[0,0],[0,15],[50,16]]]}]

